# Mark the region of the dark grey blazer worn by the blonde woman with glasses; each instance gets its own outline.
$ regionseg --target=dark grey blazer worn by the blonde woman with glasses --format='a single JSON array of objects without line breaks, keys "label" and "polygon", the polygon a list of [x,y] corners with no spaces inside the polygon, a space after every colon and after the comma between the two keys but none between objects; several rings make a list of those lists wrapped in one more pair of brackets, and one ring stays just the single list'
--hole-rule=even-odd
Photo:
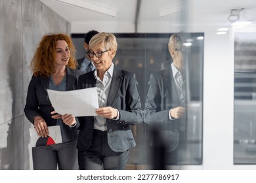
[{"label": "dark grey blazer worn by the blonde woman with glasses", "polygon": [[[79,77],[79,89],[96,86],[96,78],[93,71]],[[108,130],[108,145],[115,152],[125,152],[135,147],[135,139],[129,125],[136,125],[142,122],[142,108],[137,90],[135,74],[124,71],[114,66],[110,93],[107,106],[117,108],[119,120],[106,119]],[[94,117],[79,117],[76,125],[79,131],[77,149],[85,151],[89,148],[93,139]]]}]

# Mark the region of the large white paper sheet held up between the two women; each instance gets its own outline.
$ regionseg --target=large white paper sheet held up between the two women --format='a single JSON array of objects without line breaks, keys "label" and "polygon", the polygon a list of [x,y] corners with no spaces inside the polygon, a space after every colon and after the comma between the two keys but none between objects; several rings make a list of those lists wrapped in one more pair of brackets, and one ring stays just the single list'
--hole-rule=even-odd
[{"label": "large white paper sheet held up between the two women", "polygon": [[58,114],[97,116],[98,94],[96,87],[72,91],[47,90],[53,108]]}]

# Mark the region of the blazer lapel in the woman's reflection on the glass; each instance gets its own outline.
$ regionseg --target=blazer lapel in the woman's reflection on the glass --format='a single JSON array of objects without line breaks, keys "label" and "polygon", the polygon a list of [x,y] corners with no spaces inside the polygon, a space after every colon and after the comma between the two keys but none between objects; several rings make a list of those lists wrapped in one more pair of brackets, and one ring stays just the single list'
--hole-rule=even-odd
[{"label": "blazer lapel in the woman's reflection on the glass", "polygon": [[165,69],[164,71],[165,84],[167,86],[167,90],[169,91],[169,95],[171,96],[173,103],[176,106],[180,106],[179,95],[177,93],[177,88],[175,85],[175,80],[173,78],[173,71],[171,70],[171,65],[169,65],[169,67],[167,67],[167,69]]}]

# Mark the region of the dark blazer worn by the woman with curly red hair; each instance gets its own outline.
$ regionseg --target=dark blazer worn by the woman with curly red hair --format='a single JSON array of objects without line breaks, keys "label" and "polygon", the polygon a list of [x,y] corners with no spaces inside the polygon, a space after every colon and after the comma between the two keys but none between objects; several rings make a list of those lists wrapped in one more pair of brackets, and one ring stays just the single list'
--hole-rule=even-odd
[{"label": "dark blazer worn by the woman with curly red hair", "polygon": [[[66,67],[67,91],[75,90],[79,75],[81,75],[81,71]],[[47,93],[49,80],[49,77],[43,78],[40,76],[32,76],[32,79],[30,80],[24,112],[32,124],[35,116],[42,116],[48,126],[56,125],[57,123],[57,120],[51,118],[51,112],[54,108],[51,105],[51,101]],[[64,131],[68,140],[71,141],[77,138],[76,132],[71,131],[67,125],[64,125]]]}]

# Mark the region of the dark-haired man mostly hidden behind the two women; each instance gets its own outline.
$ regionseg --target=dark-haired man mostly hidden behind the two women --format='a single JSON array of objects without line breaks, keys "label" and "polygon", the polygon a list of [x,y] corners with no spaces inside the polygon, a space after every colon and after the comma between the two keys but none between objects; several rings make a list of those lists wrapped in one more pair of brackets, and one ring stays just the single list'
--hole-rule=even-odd
[{"label": "dark-haired man mostly hidden behind the two women", "polygon": [[[91,30],[85,34],[85,42],[83,42],[83,47],[85,48],[85,52],[89,51],[89,41],[91,38],[96,35],[98,31]],[[95,66],[91,62],[89,56],[85,54],[83,58],[77,59],[77,70],[82,71],[83,73],[88,73],[89,71],[93,71]]]}]

